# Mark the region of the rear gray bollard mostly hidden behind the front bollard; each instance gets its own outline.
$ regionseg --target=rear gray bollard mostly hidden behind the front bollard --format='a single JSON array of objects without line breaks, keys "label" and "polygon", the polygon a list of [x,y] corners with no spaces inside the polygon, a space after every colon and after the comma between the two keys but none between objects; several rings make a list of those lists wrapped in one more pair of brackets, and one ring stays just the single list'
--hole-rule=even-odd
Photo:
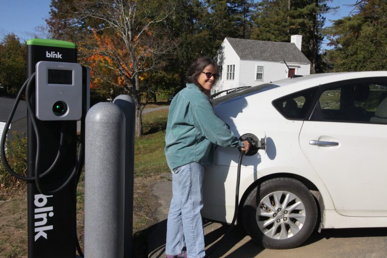
[{"label": "rear gray bollard mostly hidden behind the front bollard", "polygon": [[133,182],[135,170],[135,101],[129,95],[119,95],[114,101],[125,115],[125,172],[124,172],[124,220],[123,220],[123,257],[133,256]]}]

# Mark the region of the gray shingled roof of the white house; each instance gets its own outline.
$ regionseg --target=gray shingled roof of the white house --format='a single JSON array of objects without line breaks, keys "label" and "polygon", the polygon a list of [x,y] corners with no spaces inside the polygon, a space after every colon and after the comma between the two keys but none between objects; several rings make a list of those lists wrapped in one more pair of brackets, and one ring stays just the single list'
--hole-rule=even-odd
[{"label": "gray shingled roof of the white house", "polygon": [[310,63],[294,43],[226,38],[242,60]]}]

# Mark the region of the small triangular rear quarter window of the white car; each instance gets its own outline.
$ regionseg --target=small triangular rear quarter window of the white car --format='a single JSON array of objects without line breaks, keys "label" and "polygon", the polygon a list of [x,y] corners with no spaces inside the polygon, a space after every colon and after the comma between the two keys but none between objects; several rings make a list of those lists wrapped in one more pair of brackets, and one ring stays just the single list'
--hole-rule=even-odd
[{"label": "small triangular rear quarter window of the white car", "polygon": [[288,119],[304,119],[317,90],[318,87],[314,87],[287,95],[274,100],[273,105]]}]

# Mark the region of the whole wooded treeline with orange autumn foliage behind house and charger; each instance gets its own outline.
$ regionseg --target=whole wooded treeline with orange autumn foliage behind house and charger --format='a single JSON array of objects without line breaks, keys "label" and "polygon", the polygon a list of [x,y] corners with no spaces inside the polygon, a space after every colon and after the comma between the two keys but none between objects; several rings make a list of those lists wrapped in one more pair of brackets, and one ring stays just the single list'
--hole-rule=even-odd
[{"label": "whole wooded treeline with orange autumn foliage behind house and charger", "polygon": [[[357,0],[350,16],[323,29],[331,0],[52,0],[47,38],[74,42],[91,68],[93,97],[130,94],[137,129],[146,100],[172,95],[199,56],[215,57],[225,37],[290,42],[302,35],[311,73],[387,70],[387,3]],[[321,48],[324,37],[333,48]],[[0,44],[0,86],[15,94],[25,79],[25,44]],[[24,61],[25,66],[25,61]],[[8,72],[7,72],[8,71]],[[10,72],[11,71],[11,72]],[[24,73],[24,74],[23,74]]]}]

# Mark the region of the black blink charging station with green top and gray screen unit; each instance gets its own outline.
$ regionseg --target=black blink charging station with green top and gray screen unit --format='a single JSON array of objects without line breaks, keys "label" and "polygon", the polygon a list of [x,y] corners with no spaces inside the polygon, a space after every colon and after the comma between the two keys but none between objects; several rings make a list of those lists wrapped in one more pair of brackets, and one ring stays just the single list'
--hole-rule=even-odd
[{"label": "black blink charging station with green top and gray screen unit", "polygon": [[28,257],[75,257],[77,120],[86,115],[89,75],[75,44],[46,39],[27,41],[27,72],[36,82],[29,98],[36,117],[27,117],[28,176],[35,178],[28,182]]}]

